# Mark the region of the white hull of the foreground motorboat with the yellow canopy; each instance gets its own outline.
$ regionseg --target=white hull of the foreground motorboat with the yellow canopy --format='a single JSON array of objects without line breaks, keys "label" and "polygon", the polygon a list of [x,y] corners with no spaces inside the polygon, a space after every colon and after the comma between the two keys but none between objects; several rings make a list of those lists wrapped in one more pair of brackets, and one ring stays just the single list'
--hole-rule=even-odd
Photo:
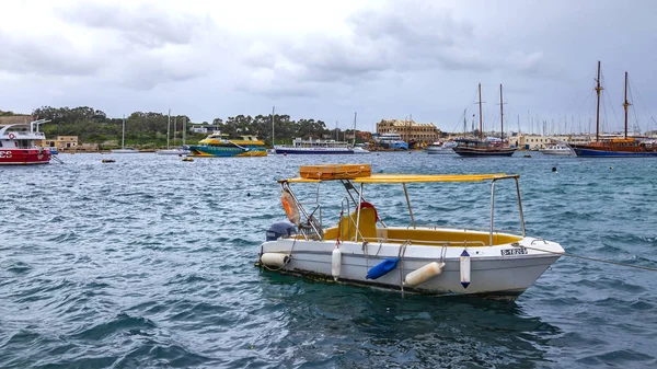
[{"label": "white hull of the foreground motorboat with the yellow canopy", "polygon": [[[442,273],[415,287],[404,287],[404,290],[433,295],[481,293],[514,299],[529,288],[564,252],[557,243],[538,241],[533,238],[522,239],[519,245],[550,252],[521,249],[511,244],[466,249],[447,246]],[[335,241],[295,241],[281,238],[265,242],[261,247],[261,254],[291,255],[290,262],[280,268],[281,273],[333,279],[332,252],[335,249]],[[397,257],[400,247],[399,243],[371,242],[364,251],[362,242],[341,243],[342,267],[337,280],[399,290],[402,280],[411,272],[431,262],[439,262],[443,249],[440,245],[411,244],[394,269],[376,280],[366,279],[368,270],[373,266],[387,258]],[[463,250],[471,255],[470,285],[466,288],[461,284],[460,256]],[[504,254],[517,252],[527,254]]]}]

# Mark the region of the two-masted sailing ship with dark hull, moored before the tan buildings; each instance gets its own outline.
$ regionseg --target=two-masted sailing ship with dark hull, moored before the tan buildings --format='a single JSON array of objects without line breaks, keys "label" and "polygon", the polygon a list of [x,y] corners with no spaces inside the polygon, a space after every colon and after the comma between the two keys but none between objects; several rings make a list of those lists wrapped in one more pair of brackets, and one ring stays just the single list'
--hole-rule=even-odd
[{"label": "two-masted sailing ship with dark hull, moored before the tan buildings", "polygon": [[479,84],[480,105],[480,139],[457,139],[457,147],[452,150],[461,157],[510,157],[516,148],[504,146],[504,102],[502,96],[502,84],[499,85],[499,114],[502,117],[502,140],[484,140],[484,125],[482,120],[482,84]]}]

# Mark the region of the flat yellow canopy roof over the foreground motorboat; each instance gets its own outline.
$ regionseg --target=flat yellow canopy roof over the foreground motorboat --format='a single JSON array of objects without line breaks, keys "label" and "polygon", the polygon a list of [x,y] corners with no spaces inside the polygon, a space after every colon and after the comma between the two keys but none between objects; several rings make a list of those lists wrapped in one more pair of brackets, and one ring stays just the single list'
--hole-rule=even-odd
[{"label": "flat yellow canopy roof over the foreground motorboat", "polygon": [[[487,180],[500,180],[518,177],[518,174],[507,175],[505,173],[494,174],[372,174],[349,180],[354,183],[426,183],[426,182],[482,182]],[[289,183],[318,183],[320,180],[290,178],[279,182]]]}]

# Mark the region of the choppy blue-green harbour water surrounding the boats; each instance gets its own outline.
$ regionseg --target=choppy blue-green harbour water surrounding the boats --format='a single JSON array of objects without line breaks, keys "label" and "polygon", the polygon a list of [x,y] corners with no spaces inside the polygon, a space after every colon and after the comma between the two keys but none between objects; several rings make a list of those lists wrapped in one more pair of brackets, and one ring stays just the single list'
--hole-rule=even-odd
[{"label": "choppy blue-green harbour water surrounding the boats", "polygon": [[[369,162],[384,172],[519,173],[530,235],[657,267],[656,160],[124,154],[103,164],[108,157],[0,168],[0,367],[657,366],[654,272],[562,257],[516,302],[500,302],[402,299],[253,266],[265,230],[284,219],[276,178],[299,164]],[[416,218],[482,220],[488,192],[469,188],[415,185]],[[391,187],[367,195],[389,223],[404,219]]]}]

